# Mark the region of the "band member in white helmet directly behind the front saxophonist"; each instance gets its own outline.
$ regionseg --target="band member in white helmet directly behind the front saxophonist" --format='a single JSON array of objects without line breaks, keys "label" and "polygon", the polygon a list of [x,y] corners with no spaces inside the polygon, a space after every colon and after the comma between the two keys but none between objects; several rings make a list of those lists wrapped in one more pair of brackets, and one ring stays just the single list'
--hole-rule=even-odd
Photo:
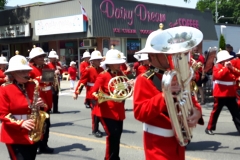
[{"label": "band member in white helmet directly behind the front saxophonist", "polygon": [[[44,69],[50,69],[45,64],[44,58],[46,53],[40,47],[35,47],[29,53],[29,64],[32,70],[29,72],[29,77],[39,81],[40,93],[39,96],[46,102],[44,110],[49,114],[52,109],[52,83],[42,81],[42,72]],[[48,147],[49,128],[50,128],[50,117],[45,120],[46,128],[43,135],[43,139],[39,143],[37,150],[38,154],[41,153],[53,153],[54,149]]]}]

